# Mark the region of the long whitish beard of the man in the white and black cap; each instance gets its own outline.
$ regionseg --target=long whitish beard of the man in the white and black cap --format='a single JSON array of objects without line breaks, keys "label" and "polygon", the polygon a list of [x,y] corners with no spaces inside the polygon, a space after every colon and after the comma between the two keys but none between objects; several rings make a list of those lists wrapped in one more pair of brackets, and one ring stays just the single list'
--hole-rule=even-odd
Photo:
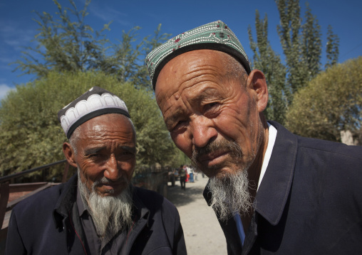
[{"label": "long whitish beard of the man in the white and black cap", "polygon": [[111,239],[121,230],[129,229],[132,226],[132,188],[123,190],[117,196],[101,197],[95,192],[99,183],[107,183],[106,178],[97,180],[89,192],[85,183],[81,181],[78,170],[78,187],[84,204],[93,219],[95,230],[100,238]]}]

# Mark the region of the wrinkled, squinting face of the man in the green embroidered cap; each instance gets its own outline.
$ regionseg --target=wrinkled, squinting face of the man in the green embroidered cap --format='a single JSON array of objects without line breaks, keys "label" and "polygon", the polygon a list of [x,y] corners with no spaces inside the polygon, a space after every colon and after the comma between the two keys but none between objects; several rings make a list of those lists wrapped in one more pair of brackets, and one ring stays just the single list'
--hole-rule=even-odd
[{"label": "wrinkled, squinting face of the man in the green embroidered cap", "polygon": [[[259,89],[249,78],[227,77],[215,50],[194,50],[170,60],[157,77],[155,95],[172,140],[209,177],[249,168],[262,143]],[[262,76],[264,78],[264,75]],[[244,83],[244,84],[243,84]],[[227,146],[239,147],[239,156]]]}]

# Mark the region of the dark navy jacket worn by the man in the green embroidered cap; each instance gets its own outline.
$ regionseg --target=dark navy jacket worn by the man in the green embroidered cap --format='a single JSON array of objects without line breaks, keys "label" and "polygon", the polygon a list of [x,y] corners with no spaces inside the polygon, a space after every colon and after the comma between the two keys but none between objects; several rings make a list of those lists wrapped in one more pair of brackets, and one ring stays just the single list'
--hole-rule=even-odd
[{"label": "dark navy jacket worn by the man in the green embroidered cap", "polygon": [[[361,254],[362,146],[296,136],[269,122],[276,142],[244,246],[234,219],[219,222],[228,254]],[[204,196],[210,202],[210,190]]]}]

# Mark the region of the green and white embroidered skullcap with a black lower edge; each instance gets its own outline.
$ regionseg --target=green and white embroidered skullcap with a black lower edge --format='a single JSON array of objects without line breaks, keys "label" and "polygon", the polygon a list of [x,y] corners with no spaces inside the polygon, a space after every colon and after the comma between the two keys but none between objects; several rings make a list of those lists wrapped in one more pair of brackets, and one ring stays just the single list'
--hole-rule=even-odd
[{"label": "green and white embroidered skullcap with a black lower edge", "polygon": [[199,26],[167,40],[167,42],[152,50],[146,57],[145,63],[150,72],[152,87],[155,89],[157,77],[168,61],[177,55],[191,50],[219,50],[232,55],[239,60],[249,74],[251,72],[247,54],[242,44],[222,21],[214,21]]}]

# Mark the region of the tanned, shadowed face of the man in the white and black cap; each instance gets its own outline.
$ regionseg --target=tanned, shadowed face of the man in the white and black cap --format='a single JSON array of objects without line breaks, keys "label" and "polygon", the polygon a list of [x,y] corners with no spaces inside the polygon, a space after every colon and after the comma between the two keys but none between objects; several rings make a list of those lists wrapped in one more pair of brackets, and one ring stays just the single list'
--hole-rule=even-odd
[{"label": "tanned, shadowed face of the man in the white and black cap", "polygon": [[[83,183],[101,196],[119,195],[135,169],[135,134],[130,121],[121,114],[105,114],[80,126],[73,155]],[[103,180],[101,180],[103,178]]]}]

